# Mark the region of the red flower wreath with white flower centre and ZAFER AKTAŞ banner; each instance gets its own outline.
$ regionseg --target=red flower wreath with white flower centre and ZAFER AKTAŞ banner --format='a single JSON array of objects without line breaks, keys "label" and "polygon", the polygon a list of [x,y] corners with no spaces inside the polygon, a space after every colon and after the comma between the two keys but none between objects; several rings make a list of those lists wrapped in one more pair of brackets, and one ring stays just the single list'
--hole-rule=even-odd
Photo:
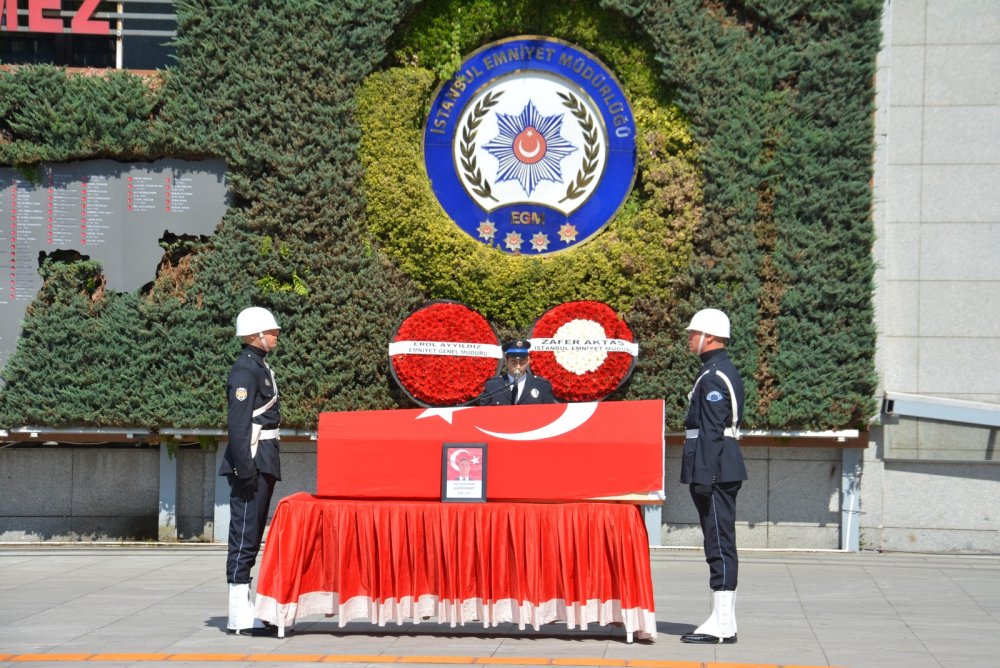
[{"label": "red flower wreath with white flower centre and ZAFER AKTA\u015e banner", "polygon": [[[567,302],[535,322],[531,332],[531,370],[552,383],[562,401],[599,401],[615,390],[635,367],[637,346],[631,352],[586,349],[586,340],[618,339],[634,344],[632,330],[614,309],[596,301]],[[583,341],[581,350],[545,350],[544,339]],[[622,347],[622,346],[617,346]],[[536,350],[538,348],[538,350]]]}]

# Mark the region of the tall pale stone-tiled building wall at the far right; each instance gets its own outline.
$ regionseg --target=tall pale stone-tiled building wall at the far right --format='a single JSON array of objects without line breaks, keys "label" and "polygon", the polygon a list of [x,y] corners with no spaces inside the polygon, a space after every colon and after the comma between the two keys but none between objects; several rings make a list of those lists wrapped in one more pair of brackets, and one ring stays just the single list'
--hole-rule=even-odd
[{"label": "tall pale stone-tiled building wall at the far right", "polygon": [[[890,0],[875,154],[883,389],[1000,404],[1000,2]],[[862,545],[1000,551],[996,430],[883,416]]]}]

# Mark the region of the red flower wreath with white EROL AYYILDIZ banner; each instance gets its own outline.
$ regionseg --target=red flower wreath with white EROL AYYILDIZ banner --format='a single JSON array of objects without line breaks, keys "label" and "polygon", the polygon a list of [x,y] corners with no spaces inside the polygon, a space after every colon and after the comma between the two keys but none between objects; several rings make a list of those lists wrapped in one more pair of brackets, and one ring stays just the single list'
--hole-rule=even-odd
[{"label": "red flower wreath with white EROL AYYILDIZ banner", "polygon": [[[420,406],[454,406],[475,399],[482,392],[486,380],[500,372],[500,341],[496,332],[486,318],[458,302],[435,301],[425,304],[407,316],[396,330],[392,341],[394,344],[465,344],[470,352],[478,355],[394,353],[393,346],[390,345],[389,368],[392,377],[407,396]],[[497,356],[482,356],[484,344],[494,348]],[[423,348],[415,346],[408,350]],[[447,352],[457,352],[454,346],[440,348]]]}]

